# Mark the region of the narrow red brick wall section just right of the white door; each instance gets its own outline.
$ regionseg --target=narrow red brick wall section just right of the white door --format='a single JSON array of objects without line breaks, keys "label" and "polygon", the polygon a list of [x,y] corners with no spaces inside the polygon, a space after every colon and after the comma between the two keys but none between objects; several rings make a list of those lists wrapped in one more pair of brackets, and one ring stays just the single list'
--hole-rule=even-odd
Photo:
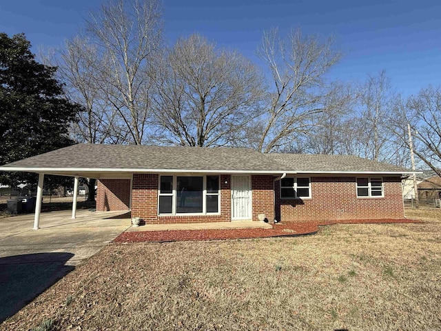
[{"label": "narrow red brick wall section just right of the white door", "polygon": [[258,221],[258,214],[265,214],[267,220],[274,221],[274,177],[252,175],[253,221]]}]

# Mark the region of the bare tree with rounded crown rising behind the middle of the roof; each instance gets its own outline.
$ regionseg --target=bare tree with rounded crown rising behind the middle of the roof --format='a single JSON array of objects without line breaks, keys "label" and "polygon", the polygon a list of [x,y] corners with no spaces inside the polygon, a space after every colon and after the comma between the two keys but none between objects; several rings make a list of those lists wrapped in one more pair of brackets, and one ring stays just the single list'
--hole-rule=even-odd
[{"label": "bare tree with rounded crown rising behind the middle of the roof", "polygon": [[256,67],[199,34],[179,39],[159,68],[155,121],[163,143],[232,145],[258,114],[262,79]]}]

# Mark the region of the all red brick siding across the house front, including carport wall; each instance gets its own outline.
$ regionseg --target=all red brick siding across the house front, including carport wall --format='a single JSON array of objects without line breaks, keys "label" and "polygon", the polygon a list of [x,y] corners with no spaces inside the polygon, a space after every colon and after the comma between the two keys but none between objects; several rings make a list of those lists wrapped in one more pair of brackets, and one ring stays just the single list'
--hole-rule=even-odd
[{"label": "all red brick siding across the house front, including carport wall", "polygon": [[[158,174],[134,174],[132,217],[146,223],[231,221],[231,175],[220,175],[220,214],[158,216]],[[252,175],[252,219],[268,221],[332,221],[339,219],[401,219],[404,217],[400,177],[384,177],[384,197],[358,198],[356,177],[311,177],[311,199],[280,199],[280,181]],[[274,194],[276,192],[276,194]],[[96,210],[127,210],[129,179],[98,181]]]}]

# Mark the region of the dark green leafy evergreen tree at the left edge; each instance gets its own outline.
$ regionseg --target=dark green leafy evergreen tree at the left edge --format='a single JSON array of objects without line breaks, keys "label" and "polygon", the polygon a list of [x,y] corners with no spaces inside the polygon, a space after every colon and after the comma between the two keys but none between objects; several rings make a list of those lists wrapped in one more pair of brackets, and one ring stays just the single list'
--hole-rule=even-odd
[{"label": "dark green leafy evergreen tree at the left edge", "polygon": [[[0,33],[0,165],[74,143],[68,129],[81,107],[63,97],[57,68],[35,61],[30,46],[24,34]],[[35,176],[3,172],[0,183],[34,184]]]}]

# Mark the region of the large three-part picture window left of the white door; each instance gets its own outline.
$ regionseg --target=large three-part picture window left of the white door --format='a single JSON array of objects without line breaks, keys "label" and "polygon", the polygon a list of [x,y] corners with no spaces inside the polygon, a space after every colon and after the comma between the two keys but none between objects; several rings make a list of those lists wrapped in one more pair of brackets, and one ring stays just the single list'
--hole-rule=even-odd
[{"label": "large three-part picture window left of the white door", "polygon": [[219,212],[219,176],[161,176],[158,214]]}]

